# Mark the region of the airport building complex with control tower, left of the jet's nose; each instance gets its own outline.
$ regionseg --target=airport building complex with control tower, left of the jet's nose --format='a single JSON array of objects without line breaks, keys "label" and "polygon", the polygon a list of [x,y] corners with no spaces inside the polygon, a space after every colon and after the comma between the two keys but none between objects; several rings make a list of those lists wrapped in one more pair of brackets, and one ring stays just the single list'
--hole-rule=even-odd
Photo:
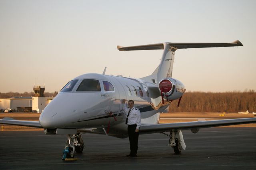
[{"label": "airport building complex with control tower, left of the jet's nose", "polygon": [[12,97],[0,99],[0,111],[9,109],[16,112],[37,112],[41,113],[54,97],[44,96],[44,87],[35,86],[33,97]]}]

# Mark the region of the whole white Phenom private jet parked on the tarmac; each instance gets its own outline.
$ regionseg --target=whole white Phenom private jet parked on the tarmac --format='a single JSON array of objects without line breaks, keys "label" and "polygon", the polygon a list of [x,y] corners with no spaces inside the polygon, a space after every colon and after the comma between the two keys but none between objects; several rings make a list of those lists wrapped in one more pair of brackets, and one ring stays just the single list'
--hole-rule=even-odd
[{"label": "whole white Phenom private jet parked on the tarmac", "polygon": [[[117,46],[120,51],[163,49],[162,59],[155,71],[146,77],[129,77],[89,73],[68,82],[40,115],[39,121],[18,121],[4,118],[2,124],[44,128],[45,134],[67,134],[62,159],[73,158],[75,151],[82,152],[84,132],[126,138],[126,113],[123,99],[134,100],[140,110],[140,134],[162,133],[170,137],[169,146],[179,154],[186,145],[181,130],[193,133],[200,128],[256,123],[256,118],[198,121],[158,124],[160,113],[168,112],[170,102],[180,99],[185,87],[172,78],[174,53],[177,49],[203,47],[242,46],[232,43],[157,43],[130,47]],[[170,133],[167,134],[166,132]]]}]

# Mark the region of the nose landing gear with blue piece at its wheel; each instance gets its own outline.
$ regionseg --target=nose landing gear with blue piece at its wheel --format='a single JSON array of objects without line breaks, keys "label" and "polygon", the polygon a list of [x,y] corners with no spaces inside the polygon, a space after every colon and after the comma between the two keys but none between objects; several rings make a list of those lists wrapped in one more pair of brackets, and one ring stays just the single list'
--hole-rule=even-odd
[{"label": "nose landing gear with blue piece at its wheel", "polygon": [[63,151],[62,160],[65,160],[66,158],[74,158],[75,151],[77,153],[83,152],[84,141],[81,137],[82,134],[83,133],[79,132],[77,134],[68,134],[68,140]]}]

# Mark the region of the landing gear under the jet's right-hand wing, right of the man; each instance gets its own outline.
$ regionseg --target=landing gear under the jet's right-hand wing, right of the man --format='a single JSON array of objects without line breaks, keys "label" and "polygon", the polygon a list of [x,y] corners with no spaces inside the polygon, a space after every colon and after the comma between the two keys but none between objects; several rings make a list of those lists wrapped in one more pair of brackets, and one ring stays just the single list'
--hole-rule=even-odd
[{"label": "landing gear under the jet's right-hand wing, right of the man", "polygon": [[170,135],[164,132],[162,132],[162,134],[165,134],[166,136],[170,137],[168,145],[173,147],[175,154],[180,154],[182,148],[184,150],[186,149],[186,144],[184,142],[183,135],[180,130],[178,131],[173,130],[172,132],[170,132]]}]

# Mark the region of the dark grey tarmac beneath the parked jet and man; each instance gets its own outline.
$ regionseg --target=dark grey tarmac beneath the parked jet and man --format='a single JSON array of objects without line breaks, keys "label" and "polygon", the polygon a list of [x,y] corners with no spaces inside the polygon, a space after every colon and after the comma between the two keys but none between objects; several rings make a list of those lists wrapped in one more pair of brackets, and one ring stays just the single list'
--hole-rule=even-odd
[{"label": "dark grey tarmac beneath the parked jet and man", "polygon": [[0,169],[90,170],[256,170],[256,128],[205,128],[193,134],[182,131],[186,150],[174,154],[164,134],[139,137],[137,158],[128,158],[128,138],[83,134],[83,153],[78,160],[63,161],[66,135],[43,131],[0,132]]}]

